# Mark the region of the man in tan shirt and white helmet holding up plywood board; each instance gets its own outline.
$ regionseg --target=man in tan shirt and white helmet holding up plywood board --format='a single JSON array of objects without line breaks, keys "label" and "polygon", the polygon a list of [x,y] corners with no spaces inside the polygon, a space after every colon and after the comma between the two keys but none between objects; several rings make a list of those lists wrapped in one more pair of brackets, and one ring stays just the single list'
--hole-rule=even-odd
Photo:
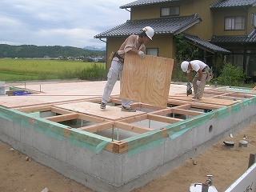
[{"label": "man in tan shirt and white helmet holding up plywood board", "polygon": [[[110,94],[114,88],[114,84],[117,82],[118,77],[120,79],[120,86],[122,83],[122,69],[125,59],[125,54],[138,54],[138,57],[143,59],[144,50],[146,50],[145,44],[152,40],[154,36],[154,30],[150,26],[146,26],[142,29],[142,32],[138,35],[130,35],[126,38],[125,42],[122,43],[119,50],[114,53],[112,58],[110,70],[107,74],[107,82],[104,88],[102,96],[102,103],[100,108],[106,109],[106,103],[110,100]],[[135,112],[136,110],[130,107],[130,100],[121,98],[122,111]]]}]

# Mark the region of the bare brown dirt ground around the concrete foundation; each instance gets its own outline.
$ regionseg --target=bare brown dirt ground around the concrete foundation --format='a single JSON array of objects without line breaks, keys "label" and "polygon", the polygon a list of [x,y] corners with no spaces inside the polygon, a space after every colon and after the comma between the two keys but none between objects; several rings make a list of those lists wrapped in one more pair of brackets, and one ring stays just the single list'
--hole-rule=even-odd
[{"label": "bare brown dirt ground around the concrete foundation", "polygon": [[[188,192],[191,183],[205,182],[207,174],[214,175],[213,185],[219,192],[226,190],[246,171],[250,154],[256,153],[256,122],[230,136],[133,192]],[[240,140],[246,140],[248,146],[239,147]],[[234,148],[226,148],[223,141],[235,142]],[[1,192],[92,191],[34,162],[3,142],[0,142],[0,154]]]}]

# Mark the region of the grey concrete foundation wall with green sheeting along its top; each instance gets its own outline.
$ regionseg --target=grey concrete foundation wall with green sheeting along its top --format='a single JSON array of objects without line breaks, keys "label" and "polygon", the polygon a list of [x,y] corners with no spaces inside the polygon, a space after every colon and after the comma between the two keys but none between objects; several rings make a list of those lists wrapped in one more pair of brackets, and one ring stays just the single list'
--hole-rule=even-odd
[{"label": "grey concrete foundation wall with green sheeting along its top", "polygon": [[[123,154],[98,151],[97,143],[110,142],[96,134],[71,129],[16,110],[0,108],[0,139],[67,178],[95,191],[130,191],[144,186],[188,158],[193,158],[214,142],[241,130],[256,120],[256,98],[230,107],[166,126],[169,137],[135,148],[144,134],[127,140]],[[152,134],[154,136],[154,134]],[[136,142],[135,142],[136,143]]]}]

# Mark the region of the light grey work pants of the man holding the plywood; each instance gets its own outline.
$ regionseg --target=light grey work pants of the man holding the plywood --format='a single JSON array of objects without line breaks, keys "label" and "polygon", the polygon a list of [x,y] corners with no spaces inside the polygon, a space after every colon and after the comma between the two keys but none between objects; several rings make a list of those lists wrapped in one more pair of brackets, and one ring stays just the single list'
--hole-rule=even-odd
[{"label": "light grey work pants of the man holding the plywood", "polygon": [[[107,82],[104,88],[104,93],[102,96],[102,102],[107,103],[110,101],[110,94],[114,88],[114,84],[120,79],[120,90],[122,83],[122,62],[113,61],[111,62],[110,70],[107,74]],[[121,98],[122,106],[130,107],[130,100],[126,98]]]}]

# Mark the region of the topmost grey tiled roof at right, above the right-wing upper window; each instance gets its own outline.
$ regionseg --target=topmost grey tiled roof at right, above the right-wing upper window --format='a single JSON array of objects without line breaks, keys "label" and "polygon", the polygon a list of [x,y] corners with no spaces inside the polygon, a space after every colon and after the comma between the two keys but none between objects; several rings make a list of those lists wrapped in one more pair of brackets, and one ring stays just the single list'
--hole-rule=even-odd
[{"label": "topmost grey tiled roof at right, above the right-wing upper window", "polygon": [[210,5],[210,8],[225,8],[237,6],[255,6],[256,0],[220,0]]}]

